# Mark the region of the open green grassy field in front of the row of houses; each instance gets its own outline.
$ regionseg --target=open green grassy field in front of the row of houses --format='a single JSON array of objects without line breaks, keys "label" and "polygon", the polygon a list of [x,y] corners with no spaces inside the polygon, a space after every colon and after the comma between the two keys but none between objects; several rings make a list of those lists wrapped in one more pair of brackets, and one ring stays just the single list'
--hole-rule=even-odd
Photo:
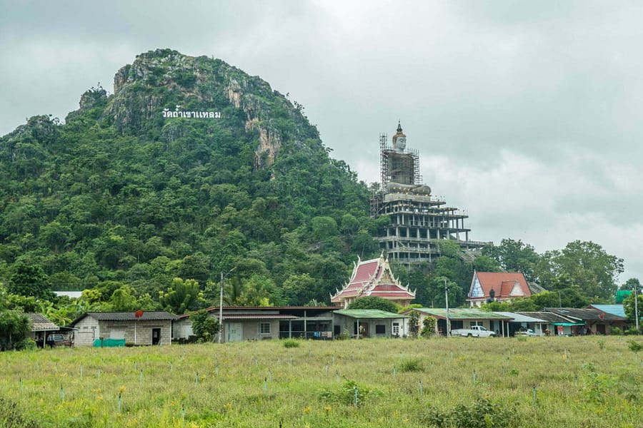
[{"label": "open green grassy field in front of the row of houses", "polygon": [[2,352],[0,427],[643,424],[626,337],[291,342]]}]

